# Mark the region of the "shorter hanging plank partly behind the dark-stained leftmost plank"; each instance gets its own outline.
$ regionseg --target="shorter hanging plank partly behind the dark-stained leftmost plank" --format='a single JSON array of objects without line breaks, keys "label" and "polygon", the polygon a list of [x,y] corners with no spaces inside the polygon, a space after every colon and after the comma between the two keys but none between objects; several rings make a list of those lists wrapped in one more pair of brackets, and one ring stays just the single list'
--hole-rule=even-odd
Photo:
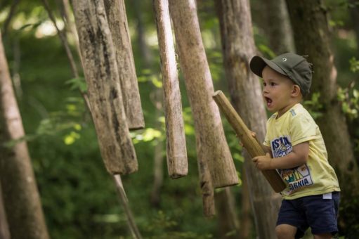
[{"label": "shorter hanging plank partly behind the dark-stained leftmost plank", "polygon": [[141,107],[140,92],[124,0],[104,0],[108,25],[115,46],[119,82],[129,129],[143,129],[145,121]]}]

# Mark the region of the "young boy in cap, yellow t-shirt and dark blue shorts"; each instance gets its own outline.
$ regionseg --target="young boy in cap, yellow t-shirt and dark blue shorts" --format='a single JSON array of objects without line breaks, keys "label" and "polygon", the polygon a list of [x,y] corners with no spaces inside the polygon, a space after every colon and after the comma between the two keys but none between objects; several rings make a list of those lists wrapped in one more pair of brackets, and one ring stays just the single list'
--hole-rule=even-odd
[{"label": "young boy in cap, yellow t-shirt and dark blue shorts", "polygon": [[320,129],[300,103],[311,87],[311,65],[285,53],[273,60],[254,56],[250,68],[263,78],[263,98],[274,112],[263,143],[268,153],[252,160],[258,169],[278,169],[288,183],[275,232],[278,238],[301,238],[311,227],[314,238],[332,238],[338,231],[339,183]]}]

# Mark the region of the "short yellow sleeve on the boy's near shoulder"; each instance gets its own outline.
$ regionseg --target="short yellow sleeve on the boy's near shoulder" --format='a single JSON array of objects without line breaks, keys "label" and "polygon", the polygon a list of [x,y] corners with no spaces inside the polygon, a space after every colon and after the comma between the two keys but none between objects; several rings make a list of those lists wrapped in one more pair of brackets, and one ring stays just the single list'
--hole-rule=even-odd
[{"label": "short yellow sleeve on the boy's near shoulder", "polygon": [[293,117],[289,126],[292,146],[318,138],[317,129],[318,125],[310,115],[299,114]]}]

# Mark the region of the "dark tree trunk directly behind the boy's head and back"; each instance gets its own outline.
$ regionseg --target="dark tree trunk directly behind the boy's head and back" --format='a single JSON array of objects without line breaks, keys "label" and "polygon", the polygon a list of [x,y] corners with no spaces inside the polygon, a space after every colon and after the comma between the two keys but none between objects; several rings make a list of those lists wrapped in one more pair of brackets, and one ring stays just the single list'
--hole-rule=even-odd
[{"label": "dark tree trunk directly behind the boy's head and back", "polygon": [[[358,166],[353,155],[351,138],[341,105],[337,101],[337,70],[334,66],[334,56],[329,46],[329,28],[325,8],[320,0],[287,1],[289,15],[292,18],[296,49],[301,55],[308,55],[308,61],[313,63],[312,92],[320,93],[322,117],[317,123],[327,146],[329,162],[339,177],[341,186],[341,205],[350,208],[355,204],[353,198],[358,198],[359,182]],[[344,207],[341,207],[344,208]],[[355,208],[355,207],[354,207]],[[341,226],[347,226],[351,233],[358,228],[351,228],[343,219],[350,219],[348,214],[357,218],[355,210],[346,209],[339,213]],[[352,220],[352,219],[350,219]],[[346,225],[344,225],[346,224]]]}]

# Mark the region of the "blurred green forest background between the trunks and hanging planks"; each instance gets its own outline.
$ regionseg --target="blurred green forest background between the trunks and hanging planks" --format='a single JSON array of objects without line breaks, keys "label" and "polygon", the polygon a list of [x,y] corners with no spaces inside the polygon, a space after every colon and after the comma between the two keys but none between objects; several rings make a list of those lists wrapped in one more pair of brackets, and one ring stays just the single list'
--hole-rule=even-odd
[{"label": "blurred green forest background between the trunks and hanging planks", "polygon": [[[63,29],[59,2],[49,1],[57,24]],[[125,1],[125,4],[145,117],[145,129],[131,132],[138,172],[122,177],[138,229],[143,238],[230,238],[245,223],[240,217],[244,211],[242,180],[231,188],[234,199],[231,203],[235,205],[236,224],[239,225],[232,228],[234,231],[228,231],[221,223],[221,209],[217,209],[215,217],[204,217],[195,129],[182,75],[180,86],[189,172],[181,179],[169,178],[165,159],[162,79],[152,1],[133,0]],[[252,0],[250,4],[257,49],[263,56],[272,58],[275,52],[263,28],[267,26],[263,19],[263,4],[259,0]],[[355,22],[350,14],[351,8],[358,8],[358,4],[355,1],[327,0],[323,2],[323,8],[326,8],[329,17],[329,39],[338,70],[340,89],[337,98],[346,115],[358,162],[359,93],[355,82],[358,82],[359,40],[355,37],[355,29],[358,30],[359,20]],[[229,95],[214,1],[197,1],[197,14],[214,89]],[[9,15],[11,18],[8,18]],[[101,160],[91,116],[79,93],[79,88],[86,89],[86,84],[83,78],[73,78],[69,60],[53,22],[48,18],[44,1],[1,1],[0,27],[51,238],[131,238],[115,183]],[[70,44],[75,53],[74,41]],[[80,66],[79,58],[75,60]],[[317,96],[314,93],[305,103],[315,118],[320,117]],[[226,120],[223,120],[223,127],[237,173],[242,179],[242,148]],[[222,191],[217,189],[216,194],[220,195]],[[352,198],[350,205],[347,201],[341,205],[341,226],[345,228],[341,234],[344,237],[355,238],[353,233],[359,232],[358,215],[355,217],[359,211],[357,201],[358,198]],[[271,218],[275,215],[257,217]],[[249,238],[256,237],[253,224],[252,218]],[[348,230],[351,230],[350,236]]]}]

